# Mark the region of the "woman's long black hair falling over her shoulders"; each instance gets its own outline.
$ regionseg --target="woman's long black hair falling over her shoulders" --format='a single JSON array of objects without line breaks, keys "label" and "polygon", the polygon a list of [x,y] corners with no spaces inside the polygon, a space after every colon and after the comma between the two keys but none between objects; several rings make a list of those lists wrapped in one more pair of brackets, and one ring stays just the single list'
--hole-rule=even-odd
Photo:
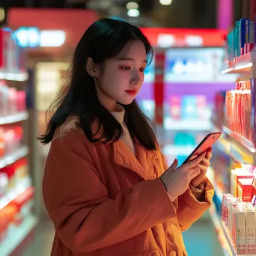
[{"label": "woman's long black hair falling over her shoulders", "polygon": [[[135,25],[122,20],[100,19],[85,31],[76,46],[67,84],[47,112],[52,112],[52,109],[55,111],[47,124],[46,132],[39,138],[41,143],[47,144],[52,141],[55,130],[70,116],[79,118],[76,125],[90,141],[117,141],[124,135],[121,124],[100,103],[94,79],[87,73],[85,64],[89,57],[94,64],[104,64],[107,59],[117,58],[121,52],[124,52],[127,44],[135,40],[144,43],[147,61],[150,63],[153,58],[153,48],[147,37]],[[155,150],[156,135],[153,122],[144,115],[135,100],[129,105],[122,106],[125,109],[124,121],[131,137],[148,150]],[[100,138],[98,136],[95,138],[96,134],[91,129],[96,120],[99,130],[103,127]]]}]

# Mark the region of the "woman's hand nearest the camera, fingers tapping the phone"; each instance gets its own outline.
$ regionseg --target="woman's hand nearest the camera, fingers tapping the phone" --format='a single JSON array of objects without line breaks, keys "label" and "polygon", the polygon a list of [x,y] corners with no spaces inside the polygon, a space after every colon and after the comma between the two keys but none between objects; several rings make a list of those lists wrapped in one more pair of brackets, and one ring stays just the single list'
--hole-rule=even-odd
[{"label": "woman's hand nearest the camera, fingers tapping the phone", "polygon": [[160,179],[162,180],[162,183],[164,183],[172,201],[186,192],[191,180],[201,173],[199,164],[205,157],[206,153],[202,153],[196,159],[180,165],[178,168],[178,162],[177,159],[175,159],[173,164],[161,175]]}]

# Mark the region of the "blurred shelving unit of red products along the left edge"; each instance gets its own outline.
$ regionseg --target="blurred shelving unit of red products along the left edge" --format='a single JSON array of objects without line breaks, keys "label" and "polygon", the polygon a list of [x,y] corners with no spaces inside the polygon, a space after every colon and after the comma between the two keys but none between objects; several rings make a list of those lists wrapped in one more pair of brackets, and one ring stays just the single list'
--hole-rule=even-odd
[{"label": "blurred shelving unit of red products along the left edge", "polygon": [[[26,211],[24,211],[25,207],[24,210],[19,209],[26,203],[15,200],[19,197],[23,198],[23,195],[25,196],[30,192],[33,193],[31,197],[34,195],[31,177],[29,177],[27,170],[28,159],[23,159],[29,153],[28,143],[24,141],[25,136],[23,136],[25,126],[22,123],[29,118],[25,109],[25,92],[21,91],[24,82],[28,80],[28,73],[25,72],[25,52],[19,49],[10,29],[0,29],[0,37],[1,40],[4,40],[4,45],[0,47],[2,55],[0,70],[0,80],[2,80],[0,95],[2,108],[0,116],[0,126],[2,126],[1,153],[4,154],[4,156],[0,157],[0,172],[5,172],[5,177],[7,177],[6,184],[1,184],[1,189],[4,189],[2,190],[4,193],[0,195],[2,222],[4,220],[4,225],[1,225],[0,230],[1,238],[3,238],[0,243],[0,255],[8,256],[31,233],[37,224],[37,219],[31,213],[31,205],[34,204],[34,198],[28,199]],[[7,113],[7,115],[2,113]],[[13,150],[9,146],[12,144]],[[19,147],[18,145],[22,146]],[[15,165],[13,165],[14,163]],[[16,175],[18,168],[21,172],[17,172]],[[15,175],[15,177],[12,175]],[[9,213],[7,209],[11,208],[12,204],[14,206],[22,205],[16,207],[15,212]],[[24,219],[20,219],[22,217]],[[18,221],[20,219],[21,223],[12,219]]]}]

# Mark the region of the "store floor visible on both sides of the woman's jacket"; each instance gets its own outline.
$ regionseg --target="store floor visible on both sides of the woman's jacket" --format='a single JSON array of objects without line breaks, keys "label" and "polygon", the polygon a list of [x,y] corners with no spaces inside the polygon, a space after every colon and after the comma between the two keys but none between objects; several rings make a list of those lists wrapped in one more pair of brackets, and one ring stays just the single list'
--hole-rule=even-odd
[{"label": "store floor visible on both sides of the woman's jacket", "polygon": [[[38,224],[31,243],[28,243],[19,256],[49,256],[53,236],[54,230],[50,222]],[[189,256],[223,256],[209,213],[205,213],[189,231],[183,232],[183,237]]]}]

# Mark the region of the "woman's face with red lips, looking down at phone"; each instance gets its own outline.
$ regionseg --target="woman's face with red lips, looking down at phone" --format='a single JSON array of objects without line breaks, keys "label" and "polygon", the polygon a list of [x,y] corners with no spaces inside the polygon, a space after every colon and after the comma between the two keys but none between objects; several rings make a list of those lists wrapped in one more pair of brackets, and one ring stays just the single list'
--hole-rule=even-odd
[{"label": "woman's face with red lips, looking down at phone", "polygon": [[96,79],[97,94],[103,106],[115,111],[117,102],[132,103],[144,82],[146,66],[146,50],[141,41],[130,43],[124,57],[107,60]]}]

